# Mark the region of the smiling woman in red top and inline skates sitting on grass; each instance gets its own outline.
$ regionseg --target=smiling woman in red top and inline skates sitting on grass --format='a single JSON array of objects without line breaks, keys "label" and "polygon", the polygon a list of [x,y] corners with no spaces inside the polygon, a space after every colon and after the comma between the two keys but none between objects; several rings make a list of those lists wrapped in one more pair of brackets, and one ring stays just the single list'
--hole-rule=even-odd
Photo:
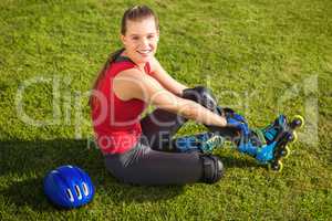
[{"label": "smiling woman in red top and inline skates sitting on grass", "polygon": [[[124,48],[107,61],[91,97],[96,140],[116,178],[139,185],[216,182],[224,167],[207,150],[226,136],[239,151],[282,169],[302,117],[289,123],[280,115],[261,129],[249,128],[243,116],[219,107],[208,88],[187,88],[163,69],[155,57],[158,20],[149,8],[128,9],[122,22]],[[157,108],[139,119],[149,104]],[[173,139],[187,119],[205,124],[209,133]]]}]

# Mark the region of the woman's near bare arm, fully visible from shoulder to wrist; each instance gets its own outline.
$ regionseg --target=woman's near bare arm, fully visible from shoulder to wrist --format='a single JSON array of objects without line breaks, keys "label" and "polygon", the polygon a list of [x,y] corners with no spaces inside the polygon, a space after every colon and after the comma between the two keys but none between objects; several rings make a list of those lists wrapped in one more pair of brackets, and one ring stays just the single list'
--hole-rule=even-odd
[{"label": "woman's near bare arm, fully visible from shoulder to wrist", "polygon": [[120,73],[114,78],[113,88],[116,96],[123,101],[137,98],[206,125],[224,127],[227,124],[225,117],[210,112],[198,103],[174,95],[165,90],[154,77],[136,69]]}]

